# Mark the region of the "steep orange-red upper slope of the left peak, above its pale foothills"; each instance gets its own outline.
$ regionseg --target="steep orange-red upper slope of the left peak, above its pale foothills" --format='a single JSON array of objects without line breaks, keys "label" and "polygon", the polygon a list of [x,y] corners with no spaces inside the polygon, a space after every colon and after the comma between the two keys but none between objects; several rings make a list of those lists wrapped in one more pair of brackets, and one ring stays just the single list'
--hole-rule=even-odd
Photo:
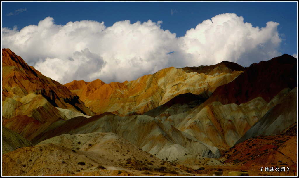
[{"label": "steep orange-red upper slope of the left peak, above its pale foothills", "polygon": [[2,49],[2,100],[23,98],[33,92],[44,96],[53,106],[93,115],[65,86],[28,66],[10,49]]}]

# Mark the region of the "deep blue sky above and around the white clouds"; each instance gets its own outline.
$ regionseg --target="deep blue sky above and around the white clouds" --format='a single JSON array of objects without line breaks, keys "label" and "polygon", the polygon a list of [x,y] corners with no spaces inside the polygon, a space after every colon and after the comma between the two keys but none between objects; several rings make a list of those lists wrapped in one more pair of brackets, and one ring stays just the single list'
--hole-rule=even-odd
[{"label": "deep blue sky above and around the white clouds", "polygon": [[[297,54],[297,2],[2,2],[2,31],[3,28],[13,30],[14,26],[17,27],[16,31],[20,31],[26,26],[38,25],[39,21],[46,17],[52,17],[56,25],[63,26],[68,22],[92,20],[104,22],[106,28],[119,21],[129,20],[130,24],[140,21],[142,24],[150,19],[156,23],[162,21],[159,24],[160,29],[169,30],[172,34],[176,33],[176,38],[178,38],[184,36],[186,31],[191,28],[196,28],[203,21],[223,13],[242,16],[244,23],[248,22],[253,27],[259,28],[265,28],[267,22],[270,21],[278,22],[276,30],[281,42],[278,47],[275,47],[275,54]],[[269,42],[264,42],[262,46],[266,46],[267,43]],[[2,47],[10,47],[7,46],[8,44],[6,41],[4,44],[2,39]],[[17,47],[13,49],[17,49]],[[79,52],[84,50],[76,49]],[[95,53],[95,51],[91,51],[91,48],[89,48],[89,52]],[[167,55],[176,55],[176,52],[169,52]],[[27,55],[22,51],[19,54],[22,53],[24,53],[25,61],[27,60],[33,66],[36,65],[38,57]],[[97,55],[102,57],[100,53]],[[54,59],[56,56],[41,56],[39,60],[45,61],[46,57]],[[103,61],[106,61],[105,58]],[[242,63],[239,59],[233,62],[243,66],[250,64]],[[105,65],[104,62],[102,64]],[[198,64],[201,63],[194,65]],[[168,63],[168,65],[182,67],[180,65],[184,64],[178,62]],[[167,67],[167,65],[165,64],[163,67]],[[148,72],[155,70],[158,68],[152,68]],[[136,76],[129,78],[133,79],[134,77]],[[114,80],[122,79],[116,76],[109,79],[109,81]]]}]

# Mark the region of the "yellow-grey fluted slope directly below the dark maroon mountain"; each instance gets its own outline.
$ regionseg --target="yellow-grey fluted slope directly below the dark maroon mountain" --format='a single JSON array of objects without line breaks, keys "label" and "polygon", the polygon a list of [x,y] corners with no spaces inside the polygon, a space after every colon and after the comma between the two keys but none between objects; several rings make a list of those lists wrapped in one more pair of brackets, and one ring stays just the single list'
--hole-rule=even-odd
[{"label": "yellow-grey fluted slope directly below the dark maroon mountain", "polygon": [[213,102],[167,118],[163,118],[165,114],[161,113],[156,119],[173,125],[205,144],[227,150],[290,91],[289,88],[283,89],[269,103],[261,97],[240,105]]}]

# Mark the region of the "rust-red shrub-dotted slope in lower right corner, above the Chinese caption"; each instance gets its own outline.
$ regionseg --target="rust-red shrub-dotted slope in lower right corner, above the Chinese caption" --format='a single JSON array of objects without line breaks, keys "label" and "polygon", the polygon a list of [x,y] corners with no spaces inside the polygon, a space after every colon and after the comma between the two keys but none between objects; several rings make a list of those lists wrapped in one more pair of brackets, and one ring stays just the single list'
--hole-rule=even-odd
[{"label": "rust-red shrub-dotted slope in lower right corner, above the Chinese caption", "polygon": [[236,144],[220,160],[229,165],[282,166],[297,171],[297,122],[276,136],[257,136]]}]

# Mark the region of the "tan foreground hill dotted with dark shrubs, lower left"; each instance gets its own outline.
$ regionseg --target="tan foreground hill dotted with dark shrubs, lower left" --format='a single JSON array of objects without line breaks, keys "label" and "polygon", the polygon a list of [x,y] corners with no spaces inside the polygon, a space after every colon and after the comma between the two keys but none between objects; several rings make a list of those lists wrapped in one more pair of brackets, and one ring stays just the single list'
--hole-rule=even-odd
[{"label": "tan foreground hill dotted with dark shrubs, lower left", "polygon": [[4,154],[2,158],[3,176],[71,175],[82,172],[89,175],[94,171],[105,175],[109,170],[112,172],[106,175],[113,175],[113,170],[126,170],[121,172],[127,174],[119,174],[130,175],[129,170],[173,173],[179,170],[114,133],[61,135],[37,146]]}]

